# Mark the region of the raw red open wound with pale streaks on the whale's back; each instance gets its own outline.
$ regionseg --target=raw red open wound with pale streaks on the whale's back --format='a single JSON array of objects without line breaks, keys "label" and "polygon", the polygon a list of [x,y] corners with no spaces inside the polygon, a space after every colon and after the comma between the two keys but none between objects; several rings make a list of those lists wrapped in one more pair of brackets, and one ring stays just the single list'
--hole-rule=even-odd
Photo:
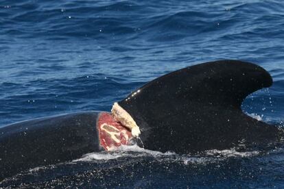
[{"label": "raw red open wound with pale streaks on the whale's back", "polygon": [[116,149],[121,145],[127,145],[132,138],[131,132],[113,118],[112,114],[102,112],[99,115],[97,129],[99,141],[106,151]]}]

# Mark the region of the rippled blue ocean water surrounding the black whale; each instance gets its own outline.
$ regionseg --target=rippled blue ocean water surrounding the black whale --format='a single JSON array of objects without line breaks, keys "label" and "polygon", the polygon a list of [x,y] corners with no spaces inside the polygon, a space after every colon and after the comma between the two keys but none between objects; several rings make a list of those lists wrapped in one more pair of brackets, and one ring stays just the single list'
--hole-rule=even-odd
[{"label": "rippled blue ocean water surrounding the black whale", "polygon": [[[0,0],[0,127],[84,110],[109,111],[165,73],[234,59],[263,66],[271,88],[243,110],[284,121],[284,3]],[[17,188],[283,188],[284,150],[160,153],[125,147],[39,167]]]}]

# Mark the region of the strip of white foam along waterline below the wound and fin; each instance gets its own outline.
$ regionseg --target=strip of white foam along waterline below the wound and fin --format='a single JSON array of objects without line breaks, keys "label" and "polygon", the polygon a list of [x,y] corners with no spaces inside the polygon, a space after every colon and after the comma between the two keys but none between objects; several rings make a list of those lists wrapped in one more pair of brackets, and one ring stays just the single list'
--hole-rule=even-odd
[{"label": "strip of white foam along waterline below the wound and fin", "polygon": [[244,151],[239,152],[235,149],[225,150],[209,150],[202,153],[202,155],[178,155],[173,152],[162,153],[160,151],[151,151],[138,147],[137,145],[132,146],[121,146],[116,151],[103,151],[98,153],[88,153],[84,157],[74,160],[73,162],[96,162],[96,161],[108,161],[115,160],[123,157],[154,157],[158,161],[166,162],[180,162],[182,164],[209,164],[213,162],[220,162],[226,160],[228,157],[252,157],[259,155],[259,151]]}]

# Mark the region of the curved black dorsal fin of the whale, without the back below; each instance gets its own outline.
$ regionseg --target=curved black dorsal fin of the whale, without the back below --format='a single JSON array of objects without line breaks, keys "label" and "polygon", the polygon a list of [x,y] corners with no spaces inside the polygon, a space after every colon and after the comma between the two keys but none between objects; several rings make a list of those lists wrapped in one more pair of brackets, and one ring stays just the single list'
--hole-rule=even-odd
[{"label": "curved black dorsal fin of the whale, without the back below", "polygon": [[[141,127],[142,136],[145,131],[145,140],[155,138],[156,132],[164,132],[167,136],[165,128],[172,134],[182,129],[187,131],[187,128],[222,134],[224,128],[255,124],[241,112],[241,103],[250,93],[271,85],[272,77],[260,66],[220,60],[158,77],[119,101],[119,105]],[[243,116],[241,121],[240,116]],[[235,123],[227,124],[226,121]],[[219,124],[223,124],[222,127]]]}]

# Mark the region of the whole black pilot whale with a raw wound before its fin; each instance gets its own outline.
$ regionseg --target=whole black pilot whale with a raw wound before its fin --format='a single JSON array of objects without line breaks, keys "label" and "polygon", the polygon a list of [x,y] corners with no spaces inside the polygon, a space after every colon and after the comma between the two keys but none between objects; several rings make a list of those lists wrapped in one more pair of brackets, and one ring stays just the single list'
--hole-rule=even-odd
[{"label": "whole black pilot whale with a raw wound before its fin", "polygon": [[[0,180],[38,166],[111,151],[139,138],[145,149],[198,153],[238,144],[276,144],[275,125],[247,116],[242,101],[272,85],[260,66],[236,60],[206,62],[150,81],[111,112],[77,112],[0,128]],[[139,141],[140,141],[139,140]]]}]

